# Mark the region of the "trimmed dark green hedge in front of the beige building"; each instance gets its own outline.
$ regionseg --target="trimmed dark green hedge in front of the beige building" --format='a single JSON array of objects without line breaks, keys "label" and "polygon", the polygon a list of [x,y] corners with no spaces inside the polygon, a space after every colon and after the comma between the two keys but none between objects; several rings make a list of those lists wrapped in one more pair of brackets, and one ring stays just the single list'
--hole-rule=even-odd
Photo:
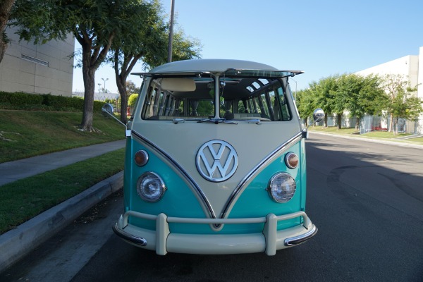
[{"label": "trimmed dark green hedge in front of the beige building", "polygon": [[[94,112],[101,112],[104,102],[94,101]],[[29,94],[24,92],[1,92],[0,109],[27,111],[82,111],[84,99],[55,96],[51,94]]]}]

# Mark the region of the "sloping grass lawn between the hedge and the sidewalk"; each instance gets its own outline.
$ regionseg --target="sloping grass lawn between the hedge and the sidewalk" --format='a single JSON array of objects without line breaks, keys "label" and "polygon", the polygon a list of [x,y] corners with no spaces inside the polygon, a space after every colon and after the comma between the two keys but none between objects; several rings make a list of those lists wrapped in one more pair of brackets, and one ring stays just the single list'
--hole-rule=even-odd
[{"label": "sloping grass lawn between the hedge and the sidewalk", "polygon": [[0,110],[0,163],[124,139],[112,118],[94,114],[97,132],[79,130],[82,113]]}]

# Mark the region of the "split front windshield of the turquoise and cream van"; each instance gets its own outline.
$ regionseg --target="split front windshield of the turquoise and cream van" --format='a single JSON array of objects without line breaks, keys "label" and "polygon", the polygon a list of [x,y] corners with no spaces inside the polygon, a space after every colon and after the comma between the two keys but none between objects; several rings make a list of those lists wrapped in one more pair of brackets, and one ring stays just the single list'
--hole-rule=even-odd
[{"label": "split front windshield of the turquoise and cream van", "polygon": [[290,121],[284,79],[240,74],[239,71],[221,76],[202,73],[195,77],[188,74],[154,77],[149,83],[142,118],[156,121],[216,121],[216,118],[222,121]]}]

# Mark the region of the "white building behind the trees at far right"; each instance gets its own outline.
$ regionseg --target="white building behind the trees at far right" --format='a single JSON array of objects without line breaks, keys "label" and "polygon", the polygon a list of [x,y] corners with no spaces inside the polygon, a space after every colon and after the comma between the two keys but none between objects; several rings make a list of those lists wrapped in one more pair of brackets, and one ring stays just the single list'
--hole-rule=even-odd
[{"label": "white building behind the trees at far right", "polygon": [[[419,68],[420,65],[420,68]],[[386,74],[403,75],[404,78],[410,80],[410,86],[417,87],[417,97],[423,101],[423,47],[419,48],[418,55],[408,55],[402,58],[382,63],[372,68],[367,68],[355,73],[357,75],[377,74],[384,76]],[[418,124],[415,126],[417,133],[423,133],[423,115],[419,118]]]}]

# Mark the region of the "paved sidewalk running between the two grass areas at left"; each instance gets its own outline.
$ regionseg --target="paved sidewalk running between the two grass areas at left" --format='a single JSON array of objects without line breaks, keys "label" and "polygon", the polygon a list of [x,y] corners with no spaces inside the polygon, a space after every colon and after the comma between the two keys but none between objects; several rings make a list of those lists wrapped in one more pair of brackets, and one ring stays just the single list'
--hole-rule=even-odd
[{"label": "paved sidewalk running between the two grass areas at left", "polygon": [[68,166],[77,161],[97,157],[101,154],[112,152],[123,147],[125,147],[125,140],[118,140],[87,147],[68,149],[62,152],[44,154],[28,159],[20,159],[18,161],[8,161],[0,164],[0,186],[29,176],[35,176],[45,171],[51,171],[62,166]]}]

